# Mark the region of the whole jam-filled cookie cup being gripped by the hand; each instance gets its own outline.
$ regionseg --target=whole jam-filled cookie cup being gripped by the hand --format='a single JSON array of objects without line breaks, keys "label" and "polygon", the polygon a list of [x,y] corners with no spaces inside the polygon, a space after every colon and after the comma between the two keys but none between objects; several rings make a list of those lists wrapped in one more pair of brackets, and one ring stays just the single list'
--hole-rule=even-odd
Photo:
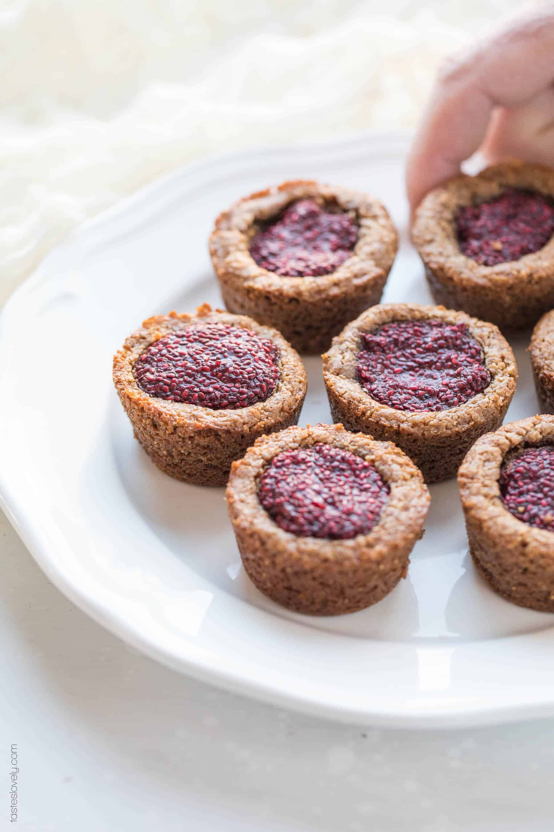
[{"label": "whole jam-filled cookie cup being gripped by the hand", "polygon": [[[532,222],[528,202],[520,198],[517,206],[513,199],[510,206],[504,205],[507,196],[517,191],[538,195],[544,203],[542,213],[537,208],[534,227],[527,235],[522,229]],[[554,307],[554,238],[548,237],[552,200],[554,170],[520,161],[490,166],[477,176],[454,176],[430,191],[416,211],[412,240],[424,262],[434,300],[500,329],[527,329],[536,324]],[[495,201],[498,210],[503,210],[504,224],[493,217],[490,208],[488,213],[481,212],[482,227],[475,217],[472,225],[473,209]],[[513,215],[516,207],[520,223]],[[487,225],[493,239],[483,245],[477,238]],[[544,245],[532,250],[543,241]],[[504,260],[517,255],[522,256]]]}]

